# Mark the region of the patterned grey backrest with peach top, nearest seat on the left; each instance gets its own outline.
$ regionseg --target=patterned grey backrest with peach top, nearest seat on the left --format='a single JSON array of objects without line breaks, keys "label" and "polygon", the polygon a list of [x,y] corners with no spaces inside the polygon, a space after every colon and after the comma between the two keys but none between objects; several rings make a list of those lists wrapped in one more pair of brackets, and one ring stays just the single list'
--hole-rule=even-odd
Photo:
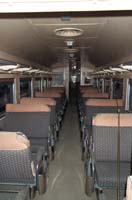
[{"label": "patterned grey backrest with peach top, nearest seat on the left", "polygon": [[0,132],[0,185],[35,184],[30,142],[20,132]]}]

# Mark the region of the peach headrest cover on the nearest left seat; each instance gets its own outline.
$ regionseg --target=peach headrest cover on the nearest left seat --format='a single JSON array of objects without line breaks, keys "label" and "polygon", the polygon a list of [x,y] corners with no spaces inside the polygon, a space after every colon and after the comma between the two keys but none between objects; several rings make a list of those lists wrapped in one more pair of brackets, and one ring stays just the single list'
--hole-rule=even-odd
[{"label": "peach headrest cover on the nearest left seat", "polygon": [[28,147],[30,142],[23,133],[0,131],[0,150],[24,150]]}]

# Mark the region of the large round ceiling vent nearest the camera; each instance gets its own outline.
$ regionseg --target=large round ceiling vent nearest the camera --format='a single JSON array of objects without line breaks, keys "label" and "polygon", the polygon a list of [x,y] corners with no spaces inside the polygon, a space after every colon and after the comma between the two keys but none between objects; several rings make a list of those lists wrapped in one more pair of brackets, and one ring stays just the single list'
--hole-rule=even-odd
[{"label": "large round ceiling vent nearest the camera", "polygon": [[61,37],[77,37],[83,34],[83,30],[78,28],[60,28],[54,32],[57,36]]}]

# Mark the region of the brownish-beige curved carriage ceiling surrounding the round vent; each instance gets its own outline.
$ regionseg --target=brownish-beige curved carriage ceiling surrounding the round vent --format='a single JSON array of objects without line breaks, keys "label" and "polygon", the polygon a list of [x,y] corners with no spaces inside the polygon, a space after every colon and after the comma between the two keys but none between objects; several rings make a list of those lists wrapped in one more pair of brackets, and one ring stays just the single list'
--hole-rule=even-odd
[{"label": "brownish-beige curved carriage ceiling surrounding the round vent", "polygon": [[86,51],[91,62],[98,66],[128,56],[131,59],[131,16],[72,15],[69,21],[63,21],[54,14],[43,18],[0,18],[0,51],[49,67],[63,60],[66,38],[56,36],[54,30],[64,27],[84,31],[82,36],[74,39],[75,45],[80,51]]}]

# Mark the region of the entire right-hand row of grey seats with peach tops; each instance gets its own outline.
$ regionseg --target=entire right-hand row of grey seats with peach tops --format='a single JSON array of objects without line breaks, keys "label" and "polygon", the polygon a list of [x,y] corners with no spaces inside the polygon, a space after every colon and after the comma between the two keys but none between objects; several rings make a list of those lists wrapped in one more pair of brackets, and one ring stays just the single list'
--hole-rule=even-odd
[{"label": "entire right-hand row of grey seats with peach tops", "polygon": [[101,199],[103,188],[125,189],[131,173],[132,114],[125,113],[122,99],[108,99],[91,87],[85,95],[80,89],[79,98],[85,191],[90,196],[96,190]]}]

